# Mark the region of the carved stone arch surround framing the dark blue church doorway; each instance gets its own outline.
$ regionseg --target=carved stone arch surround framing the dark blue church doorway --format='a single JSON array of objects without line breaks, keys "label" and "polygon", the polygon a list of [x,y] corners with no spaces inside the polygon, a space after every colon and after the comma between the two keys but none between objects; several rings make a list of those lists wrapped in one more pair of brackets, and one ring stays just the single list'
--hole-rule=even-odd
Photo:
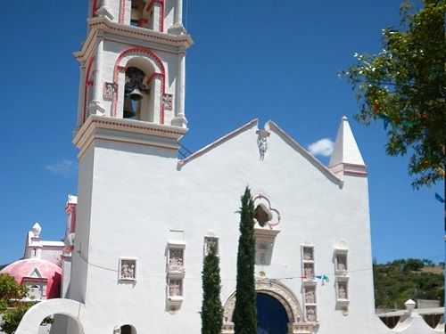
[{"label": "carved stone arch surround framing the dark blue church doorway", "polygon": [[[292,333],[311,333],[312,325],[304,322],[299,301],[294,296],[293,291],[276,280],[259,279],[255,281],[255,289],[258,292],[266,293],[277,300],[285,308],[288,315],[288,328]],[[227,298],[223,312],[222,333],[234,333],[233,314],[235,308],[235,292]]]}]

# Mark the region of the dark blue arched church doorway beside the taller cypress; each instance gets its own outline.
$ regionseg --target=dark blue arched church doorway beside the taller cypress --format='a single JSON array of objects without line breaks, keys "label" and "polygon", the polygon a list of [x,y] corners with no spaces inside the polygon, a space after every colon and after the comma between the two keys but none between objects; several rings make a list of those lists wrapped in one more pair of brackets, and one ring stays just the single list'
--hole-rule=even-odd
[{"label": "dark blue arched church doorway beside the taller cypress", "polygon": [[257,293],[257,333],[286,334],[288,315],[285,307],[266,293]]}]

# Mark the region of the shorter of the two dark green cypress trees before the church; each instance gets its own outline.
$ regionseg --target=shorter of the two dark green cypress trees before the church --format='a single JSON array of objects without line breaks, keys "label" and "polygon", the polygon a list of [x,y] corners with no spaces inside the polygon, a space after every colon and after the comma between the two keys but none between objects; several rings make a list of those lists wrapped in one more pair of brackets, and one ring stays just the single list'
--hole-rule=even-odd
[{"label": "shorter of the two dark green cypress trees before the church", "polygon": [[220,334],[222,322],[219,257],[211,247],[202,265],[202,334]]}]

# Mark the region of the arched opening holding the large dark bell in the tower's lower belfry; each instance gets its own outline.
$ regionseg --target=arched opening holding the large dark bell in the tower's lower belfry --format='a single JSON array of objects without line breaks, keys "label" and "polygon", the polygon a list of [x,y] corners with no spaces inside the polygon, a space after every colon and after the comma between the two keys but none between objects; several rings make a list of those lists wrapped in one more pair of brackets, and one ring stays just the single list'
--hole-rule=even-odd
[{"label": "arched opening holding the large dark bell in the tower's lower belfry", "polygon": [[143,58],[128,61],[125,72],[122,118],[153,122],[156,76],[153,65]]}]

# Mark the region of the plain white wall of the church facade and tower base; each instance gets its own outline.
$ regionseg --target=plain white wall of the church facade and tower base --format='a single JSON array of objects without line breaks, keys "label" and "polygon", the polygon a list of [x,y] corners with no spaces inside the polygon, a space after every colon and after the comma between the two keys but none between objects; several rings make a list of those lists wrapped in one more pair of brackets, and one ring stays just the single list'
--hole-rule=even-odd
[{"label": "plain white wall of the church facade and tower base", "polygon": [[[335,246],[343,241],[349,248],[350,314],[335,310],[335,280],[330,276],[328,284],[318,284],[318,333],[384,330],[374,315],[367,179],[345,176],[340,187],[275,133],[268,138],[262,161],[255,130],[244,131],[182,168],[177,168],[174,151],[141,145],[96,141],[95,156],[91,148],[84,155],[78,201],[78,226],[84,227],[78,227],[76,247],[80,241],[89,243],[83,246],[91,264],[85,289],[86,332],[111,333],[126,323],[139,332],[199,332],[203,237],[212,230],[220,238],[224,303],[235,289],[236,211],[247,184],[253,195],[266,195],[282,215],[271,265],[262,268],[268,278],[300,276],[304,242],[315,245],[317,273],[334,273]],[[93,180],[84,175],[91,175],[92,169]],[[91,216],[85,193],[89,182]],[[170,229],[184,230],[186,241],[184,302],[177,314],[166,312]],[[135,284],[118,281],[119,257],[137,258]],[[79,273],[85,274],[86,266],[76,258],[73,273],[80,265]],[[71,284],[73,279],[80,277],[73,275]],[[302,307],[301,280],[282,282],[293,289]]]}]

